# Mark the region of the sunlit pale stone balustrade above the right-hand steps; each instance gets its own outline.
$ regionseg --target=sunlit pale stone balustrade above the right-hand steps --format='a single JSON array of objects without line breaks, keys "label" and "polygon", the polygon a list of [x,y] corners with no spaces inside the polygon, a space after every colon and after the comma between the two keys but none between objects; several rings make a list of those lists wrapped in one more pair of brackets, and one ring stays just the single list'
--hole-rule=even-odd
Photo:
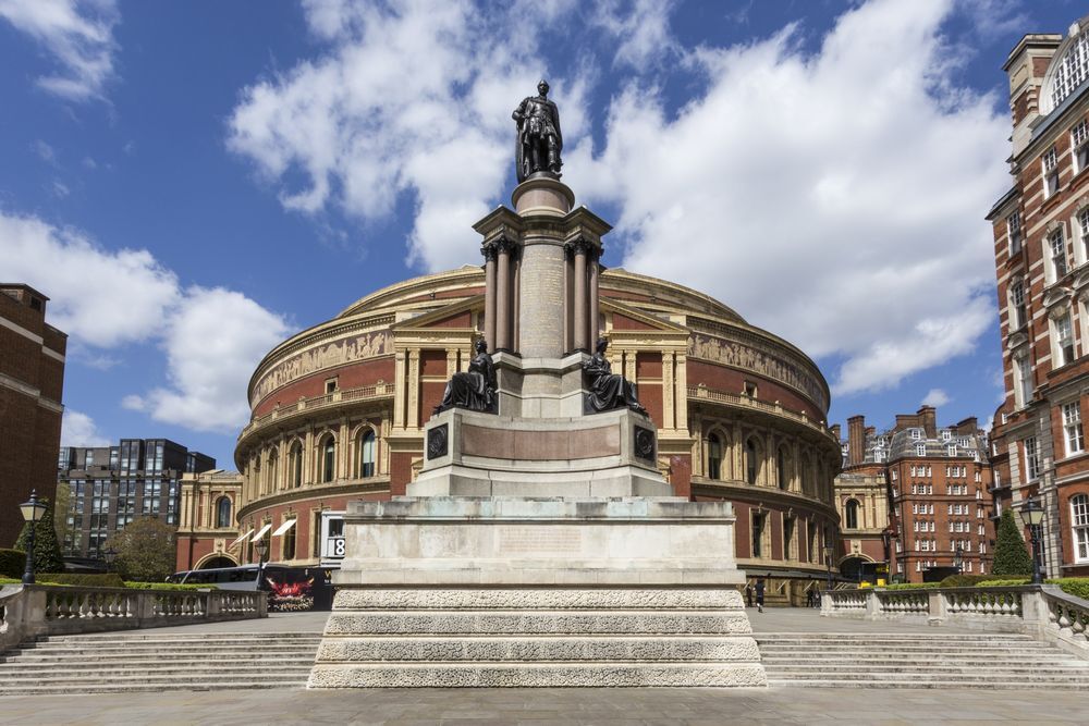
[{"label": "sunlit pale stone balustrade above the right-hand steps", "polygon": [[1089,659],[1089,601],[1053,585],[833,590],[821,594],[821,615],[1023,632]]}]

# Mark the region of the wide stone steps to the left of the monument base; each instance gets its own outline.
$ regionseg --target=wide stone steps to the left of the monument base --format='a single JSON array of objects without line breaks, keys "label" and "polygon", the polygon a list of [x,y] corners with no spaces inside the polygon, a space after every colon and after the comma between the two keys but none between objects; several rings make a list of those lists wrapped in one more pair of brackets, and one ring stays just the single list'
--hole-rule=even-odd
[{"label": "wide stone steps to the left of the monument base", "polygon": [[0,696],[305,688],[321,636],[60,636],[0,655]]}]

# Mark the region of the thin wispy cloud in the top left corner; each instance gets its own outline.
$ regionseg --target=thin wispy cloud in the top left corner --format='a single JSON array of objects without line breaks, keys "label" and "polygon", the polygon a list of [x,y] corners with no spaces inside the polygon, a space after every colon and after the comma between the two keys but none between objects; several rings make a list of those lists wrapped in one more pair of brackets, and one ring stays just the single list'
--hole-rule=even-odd
[{"label": "thin wispy cloud in the top left corner", "polygon": [[72,101],[102,98],[114,74],[115,0],[0,0],[0,17],[45,46],[61,66],[37,79],[41,88]]}]

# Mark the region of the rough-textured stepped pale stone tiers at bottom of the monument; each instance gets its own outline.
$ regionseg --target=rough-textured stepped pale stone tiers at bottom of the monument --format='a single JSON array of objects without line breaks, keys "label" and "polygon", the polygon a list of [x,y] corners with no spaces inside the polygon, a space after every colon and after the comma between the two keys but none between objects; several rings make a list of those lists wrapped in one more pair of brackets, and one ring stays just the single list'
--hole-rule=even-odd
[{"label": "rough-textured stepped pale stone tiers at bottom of the monument", "polygon": [[342,591],[309,688],[763,686],[741,593]]}]

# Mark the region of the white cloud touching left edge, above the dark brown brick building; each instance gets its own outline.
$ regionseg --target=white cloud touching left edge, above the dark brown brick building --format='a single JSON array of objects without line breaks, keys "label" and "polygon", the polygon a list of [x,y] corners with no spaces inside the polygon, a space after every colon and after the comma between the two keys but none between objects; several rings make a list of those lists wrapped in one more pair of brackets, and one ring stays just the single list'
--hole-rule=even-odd
[{"label": "white cloud touching left edge, above the dark brown brick building", "polygon": [[154,336],[178,278],[146,249],[106,250],[82,233],[0,212],[0,270],[50,298],[49,321],[87,346]]}]

